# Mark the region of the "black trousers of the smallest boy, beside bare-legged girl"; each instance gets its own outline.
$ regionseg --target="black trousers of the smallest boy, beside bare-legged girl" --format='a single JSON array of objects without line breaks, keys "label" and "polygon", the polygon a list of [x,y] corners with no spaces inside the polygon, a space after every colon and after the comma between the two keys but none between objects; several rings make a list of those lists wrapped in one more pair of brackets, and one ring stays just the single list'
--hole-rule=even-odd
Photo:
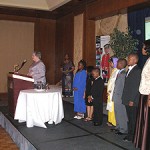
[{"label": "black trousers of the smallest boy, beside bare-legged girl", "polygon": [[101,125],[103,122],[103,103],[102,102],[100,103],[99,100],[94,100],[93,107],[94,107],[93,122],[99,123]]}]

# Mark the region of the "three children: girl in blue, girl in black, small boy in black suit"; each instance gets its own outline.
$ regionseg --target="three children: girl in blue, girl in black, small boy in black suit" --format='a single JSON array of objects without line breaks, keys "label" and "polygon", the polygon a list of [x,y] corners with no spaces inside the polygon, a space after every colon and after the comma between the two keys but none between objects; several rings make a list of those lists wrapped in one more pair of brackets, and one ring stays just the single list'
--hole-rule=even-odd
[{"label": "three children: girl in blue, girl in black, small boy in black suit", "polygon": [[74,118],[82,119],[86,113],[85,121],[93,120],[94,126],[99,126],[103,121],[103,90],[104,81],[100,77],[98,68],[87,67],[84,60],[78,64],[78,71],[73,81],[74,90]]}]

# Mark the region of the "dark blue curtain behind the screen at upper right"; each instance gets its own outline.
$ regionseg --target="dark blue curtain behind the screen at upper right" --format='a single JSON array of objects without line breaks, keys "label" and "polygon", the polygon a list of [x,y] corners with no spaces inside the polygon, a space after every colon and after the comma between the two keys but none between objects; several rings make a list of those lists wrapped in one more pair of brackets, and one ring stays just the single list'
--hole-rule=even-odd
[{"label": "dark blue curtain behind the screen at upper right", "polygon": [[128,13],[128,26],[133,32],[133,37],[139,40],[138,54],[139,54],[139,67],[143,67],[147,57],[142,55],[142,45],[145,40],[145,18],[150,17],[150,8],[129,12]]}]

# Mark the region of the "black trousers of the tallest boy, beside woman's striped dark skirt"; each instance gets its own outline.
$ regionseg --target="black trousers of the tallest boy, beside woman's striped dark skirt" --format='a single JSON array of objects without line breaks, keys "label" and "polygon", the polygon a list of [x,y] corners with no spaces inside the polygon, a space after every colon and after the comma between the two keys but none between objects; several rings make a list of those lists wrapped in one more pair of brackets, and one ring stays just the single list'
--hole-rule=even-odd
[{"label": "black trousers of the tallest boy, beside woman's striped dark skirt", "polygon": [[126,106],[127,116],[128,116],[128,138],[133,140],[137,116],[137,107]]}]

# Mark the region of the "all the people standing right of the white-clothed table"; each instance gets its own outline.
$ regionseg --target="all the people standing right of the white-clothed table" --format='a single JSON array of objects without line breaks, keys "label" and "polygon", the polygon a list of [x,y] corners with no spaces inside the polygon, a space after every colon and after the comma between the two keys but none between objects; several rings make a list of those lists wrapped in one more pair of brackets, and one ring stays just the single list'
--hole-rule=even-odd
[{"label": "all the people standing right of the white-clothed table", "polygon": [[[134,142],[136,147],[148,150],[150,148],[150,40],[144,42],[142,53],[148,57],[143,70],[137,65],[139,57],[135,53],[129,54],[127,60],[110,57],[109,65],[112,71],[107,86],[106,109],[108,125],[115,126],[111,128],[112,132],[126,135],[124,141]],[[95,126],[101,125],[104,80],[100,77],[100,69],[86,67],[86,62],[81,60],[73,79],[74,64],[70,60],[66,64],[67,69],[64,67],[62,71],[66,76],[70,75],[70,78],[63,76],[65,79],[63,92],[69,91],[70,96],[74,91],[76,113],[74,118],[93,120]],[[85,113],[87,117],[84,116]]]}]

